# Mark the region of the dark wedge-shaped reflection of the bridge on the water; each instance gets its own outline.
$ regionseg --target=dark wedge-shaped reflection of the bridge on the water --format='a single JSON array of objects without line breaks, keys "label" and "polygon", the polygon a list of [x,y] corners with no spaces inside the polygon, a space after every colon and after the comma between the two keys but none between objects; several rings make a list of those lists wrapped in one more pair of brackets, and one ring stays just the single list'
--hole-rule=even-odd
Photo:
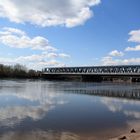
[{"label": "dark wedge-shaped reflection of the bridge on the water", "polygon": [[88,94],[116,98],[140,99],[140,86],[136,85],[104,85],[82,88],[66,89],[66,92],[75,94]]}]

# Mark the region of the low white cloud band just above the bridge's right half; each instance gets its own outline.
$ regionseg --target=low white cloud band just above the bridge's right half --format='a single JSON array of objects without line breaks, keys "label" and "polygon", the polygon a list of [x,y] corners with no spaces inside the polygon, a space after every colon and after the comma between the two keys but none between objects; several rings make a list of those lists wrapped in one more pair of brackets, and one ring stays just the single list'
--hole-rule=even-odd
[{"label": "low white cloud band just above the bridge's right half", "polygon": [[129,58],[129,59],[113,59],[110,56],[103,57],[101,60],[102,65],[131,65],[140,64],[140,58]]}]

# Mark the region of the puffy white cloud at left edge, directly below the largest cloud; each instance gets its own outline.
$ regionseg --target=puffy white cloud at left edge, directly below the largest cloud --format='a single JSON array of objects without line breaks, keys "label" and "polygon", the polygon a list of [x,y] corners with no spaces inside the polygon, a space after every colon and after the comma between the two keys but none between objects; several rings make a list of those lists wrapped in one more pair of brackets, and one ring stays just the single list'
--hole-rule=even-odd
[{"label": "puffy white cloud at left edge, directly below the largest cloud", "polygon": [[31,48],[33,50],[55,51],[49,41],[41,36],[30,38],[24,31],[5,27],[0,32],[0,43],[12,48]]}]

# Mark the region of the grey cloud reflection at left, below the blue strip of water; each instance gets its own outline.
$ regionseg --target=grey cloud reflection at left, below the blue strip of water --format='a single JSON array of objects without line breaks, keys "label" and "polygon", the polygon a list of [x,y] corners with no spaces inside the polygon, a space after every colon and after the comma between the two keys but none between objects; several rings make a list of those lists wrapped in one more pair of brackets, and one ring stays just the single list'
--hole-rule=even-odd
[{"label": "grey cloud reflection at left, below the blue strip of water", "polygon": [[0,108],[0,125],[12,126],[29,117],[34,121],[39,120],[54,106],[15,106]]}]

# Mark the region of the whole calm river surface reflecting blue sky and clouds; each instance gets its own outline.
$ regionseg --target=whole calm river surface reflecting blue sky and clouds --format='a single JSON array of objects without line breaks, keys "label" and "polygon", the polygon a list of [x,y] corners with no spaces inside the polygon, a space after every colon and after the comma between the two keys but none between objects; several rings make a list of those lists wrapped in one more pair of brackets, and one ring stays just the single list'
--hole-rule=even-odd
[{"label": "whole calm river surface reflecting blue sky and clouds", "polygon": [[0,139],[108,139],[140,127],[139,99],[138,84],[1,80]]}]

